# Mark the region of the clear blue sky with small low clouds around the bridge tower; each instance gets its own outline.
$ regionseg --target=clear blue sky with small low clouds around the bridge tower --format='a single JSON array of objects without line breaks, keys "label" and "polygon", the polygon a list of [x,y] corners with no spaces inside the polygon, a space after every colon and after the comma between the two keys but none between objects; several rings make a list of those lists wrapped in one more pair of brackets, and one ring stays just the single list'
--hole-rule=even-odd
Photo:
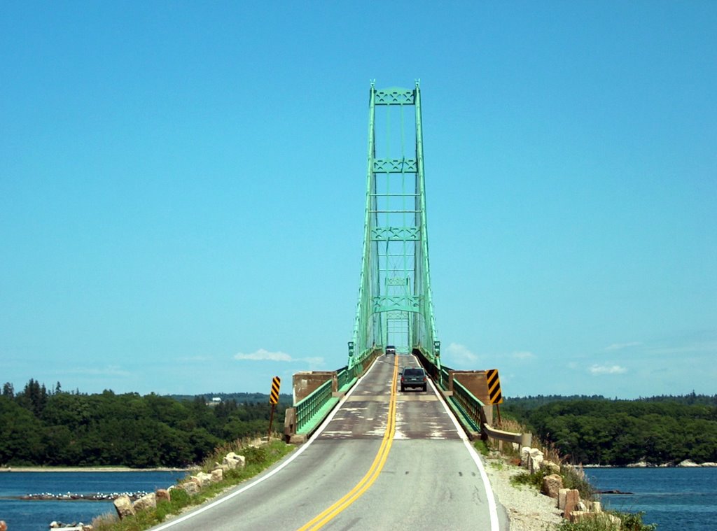
[{"label": "clear blue sky with small low clouds around the bridge tower", "polygon": [[346,364],[370,80],[421,80],[444,363],[717,393],[717,4],[0,4],[0,381]]}]

